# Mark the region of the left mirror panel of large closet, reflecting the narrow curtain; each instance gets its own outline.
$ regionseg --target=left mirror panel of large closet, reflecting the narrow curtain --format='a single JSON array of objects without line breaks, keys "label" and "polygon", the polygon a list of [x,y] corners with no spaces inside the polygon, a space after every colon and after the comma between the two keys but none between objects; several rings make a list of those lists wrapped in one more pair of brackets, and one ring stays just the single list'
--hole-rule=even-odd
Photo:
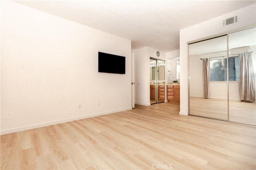
[{"label": "left mirror panel of large closet, reflecting the narrow curtain", "polygon": [[228,121],[227,36],[188,49],[189,114]]}]

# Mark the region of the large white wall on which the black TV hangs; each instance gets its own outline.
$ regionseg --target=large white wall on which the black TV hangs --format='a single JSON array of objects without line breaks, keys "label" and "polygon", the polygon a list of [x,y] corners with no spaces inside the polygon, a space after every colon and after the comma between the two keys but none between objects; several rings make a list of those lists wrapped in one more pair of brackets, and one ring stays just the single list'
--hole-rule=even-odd
[{"label": "large white wall on which the black TV hangs", "polygon": [[[1,45],[1,134],[132,109],[130,40],[1,2]],[[98,51],[126,74],[98,73]]]}]

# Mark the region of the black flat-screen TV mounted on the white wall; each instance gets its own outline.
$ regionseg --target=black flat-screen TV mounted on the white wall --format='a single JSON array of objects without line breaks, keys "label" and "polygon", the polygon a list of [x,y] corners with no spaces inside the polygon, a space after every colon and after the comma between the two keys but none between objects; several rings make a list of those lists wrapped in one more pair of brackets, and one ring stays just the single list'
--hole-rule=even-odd
[{"label": "black flat-screen TV mounted on the white wall", "polygon": [[99,52],[98,72],[125,74],[125,57]]}]

